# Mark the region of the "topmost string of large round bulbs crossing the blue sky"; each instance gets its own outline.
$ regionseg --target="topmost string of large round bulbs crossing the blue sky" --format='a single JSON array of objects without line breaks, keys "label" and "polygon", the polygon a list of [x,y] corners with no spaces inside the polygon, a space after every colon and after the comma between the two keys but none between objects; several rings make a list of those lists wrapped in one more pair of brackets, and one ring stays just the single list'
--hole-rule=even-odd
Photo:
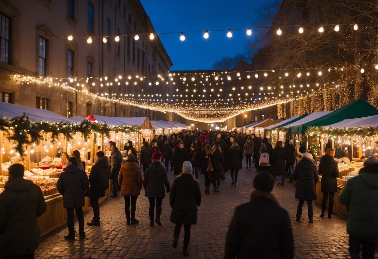
[{"label": "topmost string of large round bulbs crossing the blue sky", "polygon": [[[341,29],[343,28],[344,30],[348,29],[348,28],[352,28],[353,31],[358,31],[360,27],[363,27],[363,26],[371,26],[371,25],[364,25],[364,24],[358,24],[358,23],[354,23],[354,24],[348,24],[348,23],[345,23],[345,24],[338,24],[338,23],[332,23],[332,24],[324,24],[324,25],[318,25],[318,26],[314,26],[314,25],[302,25],[302,26],[298,26],[298,25],[287,25],[285,26],[285,28],[287,28],[288,30],[291,29],[291,27],[294,27],[294,28],[297,28],[297,31],[299,34],[303,34],[305,32],[305,30],[307,30],[308,28],[310,28],[311,30],[316,30],[318,33],[322,34],[324,33],[327,29],[328,31],[335,31],[335,32],[339,32],[341,31]],[[91,44],[93,42],[93,39],[97,39],[97,38],[102,38],[102,42],[103,43],[107,43],[108,40],[114,40],[115,42],[119,42],[121,40],[121,37],[133,37],[133,39],[135,41],[138,41],[140,36],[142,35],[146,35],[148,36],[148,38],[150,40],[154,40],[155,39],[155,36],[158,36],[158,35],[167,35],[167,34],[178,34],[179,35],[179,39],[180,41],[185,41],[186,40],[186,36],[187,34],[194,34],[194,33],[201,33],[202,34],[202,37],[207,40],[209,39],[210,37],[210,34],[212,32],[226,32],[226,37],[228,38],[232,38],[233,37],[233,31],[245,31],[246,32],[246,35],[247,36],[251,36],[253,34],[253,31],[255,30],[260,30],[260,29],[270,29],[272,31],[275,31],[277,35],[282,35],[285,33],[285,30],[282,29],[281,27],[266,27],[266,26],[262,26],[262,27],[255,27],[255,28],[234,28],[234,29],[219,29],[219,30],[201,30],[201,31],[182,31],[182,32],[162,32],[162,33],[156,33],[156,32],[146,32],[146,33],[134,33],[134,34],[120,34],[120,35],[104,35],[104,36],[97,36],[97,35],[94,35],[94,36],[84,36],[84,35],[73,35],[73,34],[69,34],[67,36],[55,36],[57,38],[67,38],[69,41],[75,39],[75,38],[85,38],[87,39],[87,43],[88,44]]]}]

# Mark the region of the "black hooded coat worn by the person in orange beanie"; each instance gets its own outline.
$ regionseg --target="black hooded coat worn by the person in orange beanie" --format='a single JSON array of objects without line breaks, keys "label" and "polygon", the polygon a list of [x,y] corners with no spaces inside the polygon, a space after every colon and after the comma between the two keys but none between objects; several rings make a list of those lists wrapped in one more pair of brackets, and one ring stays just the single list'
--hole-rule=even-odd
[{"label": "black hooded coat worn by the person in orange beanie", "polygon": [[320,159],[319,175],[322,176],[320,190],[325,193],[337,192],[337,177],[339,177],[339,167],[332,156],[324,155]]}]

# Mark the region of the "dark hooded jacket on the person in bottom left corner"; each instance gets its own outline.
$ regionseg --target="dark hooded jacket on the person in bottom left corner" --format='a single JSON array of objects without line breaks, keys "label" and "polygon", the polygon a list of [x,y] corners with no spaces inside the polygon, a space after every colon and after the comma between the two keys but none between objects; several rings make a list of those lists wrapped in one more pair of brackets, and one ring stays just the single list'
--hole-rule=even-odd
[{"label": "dark hooded jacket on the person in bottom left corner", "polygon": [[15,256],[31,254],[39,245],[37,217],[46,211],[41,189],[30,180],[9,180],[0,194],[0,251]]}]

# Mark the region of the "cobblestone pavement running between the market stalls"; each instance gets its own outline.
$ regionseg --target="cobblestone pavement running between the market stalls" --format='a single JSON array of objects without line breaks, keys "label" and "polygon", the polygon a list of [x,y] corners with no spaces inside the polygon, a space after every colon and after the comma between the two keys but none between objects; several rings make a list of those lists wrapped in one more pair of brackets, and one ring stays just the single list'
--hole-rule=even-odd
[{"label": "cobblestone pavement running between the market stalls", "polygon": [[[173,172],[169,172],[173,182]],[[204,194],[204,176],[200,175],[202,192],[198,207],[198,224],[192,226],[189,244],[190,258],[222,258],[228,225],[237,205],[248,201],[252,188],[254,168],[243,168],[239,172],[237,187],[231,186],[231,177],[221,182],[220,193]],[[212,190],[212,187],[210,187]],[[307,220],[307,206],[303,208],[302,222],[295,221],[297,201],[294,184],[274,185],[273,194],[280,205],[288,210],[294,231],[295,258],[347,258],[348,235],[346,220],[333,216],[320,218],[321,210],[314,206],[314,223]],[[174,224],[169,221],[169,197],[163,199],[162,226],[149,226],[149,202],[144,191],[138,197],[136,218],[138,225],[126,225],[123,197],[109,198],[101,205],[101,226],[85,225],[87,238],[66,241],[67,226],[43,237],[36,258],[178,258],[182,256],[183,229],[178,247],[172,248]],[[91,220],[92,210],[84,215],[85,222]],[[75,229],[78,229],[77,221]],[[378,256],[378,253],[376,253]]]}]

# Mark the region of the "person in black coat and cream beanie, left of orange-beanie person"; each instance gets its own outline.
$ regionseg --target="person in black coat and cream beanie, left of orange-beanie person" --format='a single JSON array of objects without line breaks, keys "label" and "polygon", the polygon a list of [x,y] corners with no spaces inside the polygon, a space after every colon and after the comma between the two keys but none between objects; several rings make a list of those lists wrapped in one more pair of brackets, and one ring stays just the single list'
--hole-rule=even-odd
[{"label": "person in black coat and cream beanie, left of orange-beanie person", "polygon": [[307,200],[308,219],[313,223],[312,201],[316,200],[316,182],[319,180],[318,170],[310,153],[303,153],[302,159],[294,168],[293,180],[297,180],[295,198],[299,200],[296,221],[301,221],[302,207]]}]

